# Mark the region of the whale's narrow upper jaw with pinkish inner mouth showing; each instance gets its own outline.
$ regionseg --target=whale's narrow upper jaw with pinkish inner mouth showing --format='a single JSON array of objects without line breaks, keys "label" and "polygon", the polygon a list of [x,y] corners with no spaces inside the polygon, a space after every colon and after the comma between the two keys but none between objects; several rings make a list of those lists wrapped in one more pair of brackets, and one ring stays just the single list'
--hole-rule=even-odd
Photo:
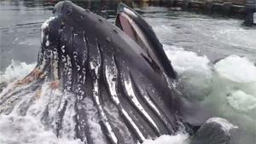
[{"label": "whale's narrow upper jaw with pinkish inner mouth showing", "polygon": [[148,55],[148,63],[160,66],[169,78],[177,78],[158,37],[140,14],[123,3],[119,4],[115,25],[131,37]]}]

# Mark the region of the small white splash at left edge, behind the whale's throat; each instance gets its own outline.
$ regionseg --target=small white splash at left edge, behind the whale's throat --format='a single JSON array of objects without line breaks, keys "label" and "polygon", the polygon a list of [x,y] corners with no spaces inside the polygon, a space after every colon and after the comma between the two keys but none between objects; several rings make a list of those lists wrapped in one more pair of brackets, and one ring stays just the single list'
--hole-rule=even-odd
[{"label": "small white splash at left edge, behind the whale's throat", "polygon": [[18,62],[11,60],[11,64],[4,70],[0,72],[0,84],[7,83],[24,78],[32,69],[36,66],[36,63],[26,64],[26,62]]}]

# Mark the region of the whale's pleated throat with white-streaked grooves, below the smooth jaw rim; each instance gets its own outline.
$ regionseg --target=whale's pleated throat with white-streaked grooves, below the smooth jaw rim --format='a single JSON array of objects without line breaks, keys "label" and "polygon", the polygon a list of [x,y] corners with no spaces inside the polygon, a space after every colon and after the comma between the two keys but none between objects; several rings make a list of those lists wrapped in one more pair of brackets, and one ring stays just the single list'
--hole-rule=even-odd
[{"label": "whale's pleated throat with white-streaked grooves, below the smooth jaw rim", "polygon": [[[88,111],[95,112],[95,123],[101,126],[102,139],[110,143],[137,143],[146,138],[175,134],[179,127],[184,127],[171,111],[166,113],[167,107],[157,90],[142,73],[131,72],[113,51],[107,54],[99,41],[96,40],[96,47],[93,47],[86,40],[88,37],[82,39],[85,39],[82,49],[62,45],[59,51],[43,50],[38,59],[36,70],[44,73],[44,80],[50,86],[59,84],[56,88],[62,90],[65,100],[55,113],[56,135],[63,135],[63,122],[71,108],[75,113],[75,135],[89,143],[95,138],[89,135],[91,116]],[[66,49],[76,50],[67,53]],[[83,60],[79,60],[79,52]]]}]

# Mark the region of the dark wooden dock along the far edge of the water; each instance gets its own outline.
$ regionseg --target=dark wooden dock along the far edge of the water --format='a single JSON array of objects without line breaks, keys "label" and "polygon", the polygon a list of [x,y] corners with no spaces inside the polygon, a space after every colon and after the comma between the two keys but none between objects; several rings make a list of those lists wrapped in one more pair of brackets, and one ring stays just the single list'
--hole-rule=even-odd
[{"label": "dark wooden dock along the far edge of the water", "polygon": [[[247,26],[256,25],[256,0],[134,0],[166,7],[181,7],[184,10],[201,10],[206,14],[218,13],[239,16]],[[254,16],[253,16],[254,15]],[[254,18],[253,18],[254,17]]]}]

